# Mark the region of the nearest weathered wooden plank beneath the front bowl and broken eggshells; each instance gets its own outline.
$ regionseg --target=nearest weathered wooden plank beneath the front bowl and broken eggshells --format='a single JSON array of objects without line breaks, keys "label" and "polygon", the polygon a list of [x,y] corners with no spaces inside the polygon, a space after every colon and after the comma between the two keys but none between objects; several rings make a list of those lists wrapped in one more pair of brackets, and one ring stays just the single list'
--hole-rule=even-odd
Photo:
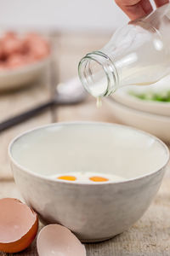
[{"label": "nearest weathered wooden plank beneath the front bowl and broken eggshells", "polygon": [[[86,244],[87,256],[168,256],[170,252],[169,188],[170,178],[166,177],[144,216],[132,228],[109,241]],[[0,198],[6,196],[22,199],[13,181],[1,182]],[[35,241],[23,253],[0,253],[0,256],[5,255],[37,256]]]}]

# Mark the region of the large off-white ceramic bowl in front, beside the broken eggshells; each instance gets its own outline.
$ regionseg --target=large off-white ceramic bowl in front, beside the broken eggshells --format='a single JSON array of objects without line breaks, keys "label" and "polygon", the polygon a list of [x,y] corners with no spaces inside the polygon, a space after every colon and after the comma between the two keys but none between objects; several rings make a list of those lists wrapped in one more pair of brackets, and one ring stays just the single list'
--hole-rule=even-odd
[{"label": "large off-white ceramic bowl in front, beside the broken eggshells", "polygon": [[[27,131],[9,145],[14,180],[44,223],[82,241],[104,241],[134,224],[161,185],[169,152],[143,131],[105,123],[60,123]],[[122,182],[53,179],[65,172],[116,174]]]}]

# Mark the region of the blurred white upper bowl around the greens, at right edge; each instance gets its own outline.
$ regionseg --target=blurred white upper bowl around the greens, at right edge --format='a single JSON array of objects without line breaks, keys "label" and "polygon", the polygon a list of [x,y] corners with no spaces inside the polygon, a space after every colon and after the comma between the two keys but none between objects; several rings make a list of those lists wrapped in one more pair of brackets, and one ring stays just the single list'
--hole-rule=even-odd
[{"label": "blurred white upper bowl around the greens, at right edge", "polygon": [[170,102],[141,100],[135,96],[131,96],[128,93],[129,91],[136,93],[150,93],[150,91],[162,93],[163,90],[170,90],[170,76],[166,77],[165,79],[161,79],[161,81],[157,82],[156,84],[151,84],[148,86],[131,85],[122,87],[121,89],[117,90],[112,97],[116,100],[116,102],[120,102],[130,108],[170,116]]}]

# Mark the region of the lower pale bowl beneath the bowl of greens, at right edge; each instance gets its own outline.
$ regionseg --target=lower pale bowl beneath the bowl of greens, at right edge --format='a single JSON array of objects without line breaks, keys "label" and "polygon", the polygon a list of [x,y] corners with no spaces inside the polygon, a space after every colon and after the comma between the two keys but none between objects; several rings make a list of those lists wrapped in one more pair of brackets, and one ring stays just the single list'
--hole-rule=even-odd
[{"label": "lower pale bowl beneath the bowl of greens, at right edge", "polygon": [[109,98],[105,102],[110,105],[114,117],[122,124],[150,132],[164,142],[170,143],[170,117],[129,108]]}]

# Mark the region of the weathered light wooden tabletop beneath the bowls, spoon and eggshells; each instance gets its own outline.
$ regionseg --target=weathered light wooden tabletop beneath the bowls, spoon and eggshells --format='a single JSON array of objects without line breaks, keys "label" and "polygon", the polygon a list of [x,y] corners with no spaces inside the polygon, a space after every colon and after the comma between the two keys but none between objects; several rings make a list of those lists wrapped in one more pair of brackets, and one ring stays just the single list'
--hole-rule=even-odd
[{"label": "weathered light wooden tabletop beneath the bowls, spoon and eggshells", "polygon": [[[58,82],[65,82],[77,75],[77,63],[81,57],[93,49],[101,48],[110,36],[56,34],[52,39],[52,44],[53,65]],[[53,94],[54,85],[51,83],[50,67],[48,67],[39,83],[22,90],[0,94],[0,121],[48,100]],[[14,184],[8,163],[7,148],[10,140],[20,132],[38,125],[71,120],[116,122],[113,113],[105,103],[102,108],[98,109],[94,98],[88,96],[85,102],[77,106],[49,109],[36,118],[4,131],[0,134],[0,198],[14,197],[22,200]],[[170,255],[170,176],[168,172],[169,170],[167,170],[161,189],[143,218],[120,236],[105,242],[87,244],[88,256]],[[0,255],[7,255],[7,253],[0,253]],[[26,251],[14,255],[37,255],[35,241]]]}]

